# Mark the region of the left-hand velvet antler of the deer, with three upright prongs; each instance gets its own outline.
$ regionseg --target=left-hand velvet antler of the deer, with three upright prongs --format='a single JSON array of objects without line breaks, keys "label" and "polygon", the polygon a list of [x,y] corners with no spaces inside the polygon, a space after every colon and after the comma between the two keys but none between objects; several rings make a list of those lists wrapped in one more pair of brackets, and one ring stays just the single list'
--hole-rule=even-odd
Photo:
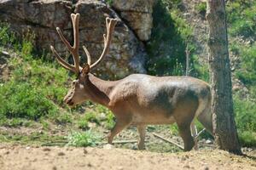
[{"label": "left-hand velvet antler of the deer, with three upright prongs", "polygon": [[67,39],[63,36],[61,29],[56,27],[56,31],[61,37],[61,41],[65,44],[67,49],[73,55],[74,65],[68,64],[64,59],[61,59],[61,56],[56,52],[53,46],[50,46],[51,51],[55,54],[58,62],[67,70],[73,71],[76,74],[79,74],[81,67],[79,66],[79,14],[71,14],[71,19],[73,23],[73,47],[67,42]]}]

